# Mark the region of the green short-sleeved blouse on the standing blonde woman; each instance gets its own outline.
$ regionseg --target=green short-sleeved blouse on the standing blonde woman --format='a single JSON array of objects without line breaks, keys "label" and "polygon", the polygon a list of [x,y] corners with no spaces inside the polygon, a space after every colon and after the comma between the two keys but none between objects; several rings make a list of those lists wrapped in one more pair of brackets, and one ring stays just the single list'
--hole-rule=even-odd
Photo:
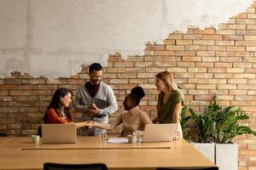
[{"label": "green short-sleeved blouse on the standing blonde woman", "polygon": [[174,91],[170,94],[166,105],[163,104],[164,93],[158,94],[157,102],[157,115],[159,123],[171,123],[172,113],[174,111],[175,105],[183,101],[183,93],[181,91]]}]

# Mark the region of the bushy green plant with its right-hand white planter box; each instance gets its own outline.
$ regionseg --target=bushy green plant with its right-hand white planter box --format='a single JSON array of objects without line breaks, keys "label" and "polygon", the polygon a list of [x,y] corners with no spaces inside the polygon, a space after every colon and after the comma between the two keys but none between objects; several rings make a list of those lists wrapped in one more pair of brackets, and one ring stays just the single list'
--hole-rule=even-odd
[{"label": "bushy green plant with its right-hand white planter box", "polygon": [[236,170],[238,147],[232,143],[232,139],[241,134],[256,136],[256,132],[250,127],[241,126],[239,123],[249,118],[247,114],[239,107],[218,105],[216,98],[212,104],[206,106],[204,115],[195,114],[191,108],[189,111],[198,130],[199,142],[215,145],[213,162],[220,170]]}]

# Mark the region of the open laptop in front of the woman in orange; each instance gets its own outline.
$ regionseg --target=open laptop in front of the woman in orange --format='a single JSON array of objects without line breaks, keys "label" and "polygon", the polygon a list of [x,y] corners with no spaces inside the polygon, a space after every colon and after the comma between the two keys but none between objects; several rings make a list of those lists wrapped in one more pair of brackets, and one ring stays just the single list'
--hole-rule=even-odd
[{"label": "open laptop in front of the woman in orange", "polygon": [[42,124],[43,144],[75,144],[77,128],[74,123]]}]

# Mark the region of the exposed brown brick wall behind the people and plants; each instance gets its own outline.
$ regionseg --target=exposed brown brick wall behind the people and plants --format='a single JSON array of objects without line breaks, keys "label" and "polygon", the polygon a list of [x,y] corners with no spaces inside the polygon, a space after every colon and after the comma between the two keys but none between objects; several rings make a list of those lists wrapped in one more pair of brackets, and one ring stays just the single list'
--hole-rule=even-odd
[{"label": "exposed brown brick wall behind the people and plants", "polygon": [[[163,43],[146,44],[143,56],[123,59],[110,55],[104,68],[103,82],[114,91],[119,110],[125,94],[138,84],[146,90],[141,109],[156,115],[154,77],[160,71],[175,72],[183,88],[185,103],[202,111],[217,94],[221,105],[241,106],[250,116],[245,125],[256,129],[256,3],[247,12],[230,18],[218,30],[208,27],[174,32]],[[13,135],[35,133],[56,88],[70,88],[75,93],[88,80],[87,65],[78,75],[50,82],[13,72],[0,79],[0,132]],[[75,113],[77,120],[81,113]],[[120,128],[112,133],[119,133]],[[239,169],[256,169],[256,138],[242,135],[239,144]]]}]

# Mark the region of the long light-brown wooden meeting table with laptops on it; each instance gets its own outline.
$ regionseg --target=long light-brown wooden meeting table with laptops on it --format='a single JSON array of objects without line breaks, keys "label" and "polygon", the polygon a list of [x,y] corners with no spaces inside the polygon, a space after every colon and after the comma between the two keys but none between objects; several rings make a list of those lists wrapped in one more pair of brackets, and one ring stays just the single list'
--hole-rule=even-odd
[{"label": "long light-brown wooden meeting table with laptops on it", "polygon": [[109,169],[214,166],[185,140],[102,144],[97,137],[79,137],[77,144],[32,144],[28,137],[13,137],[0,142],[0,169],[43,169],[44,162],[102,162]]}]

